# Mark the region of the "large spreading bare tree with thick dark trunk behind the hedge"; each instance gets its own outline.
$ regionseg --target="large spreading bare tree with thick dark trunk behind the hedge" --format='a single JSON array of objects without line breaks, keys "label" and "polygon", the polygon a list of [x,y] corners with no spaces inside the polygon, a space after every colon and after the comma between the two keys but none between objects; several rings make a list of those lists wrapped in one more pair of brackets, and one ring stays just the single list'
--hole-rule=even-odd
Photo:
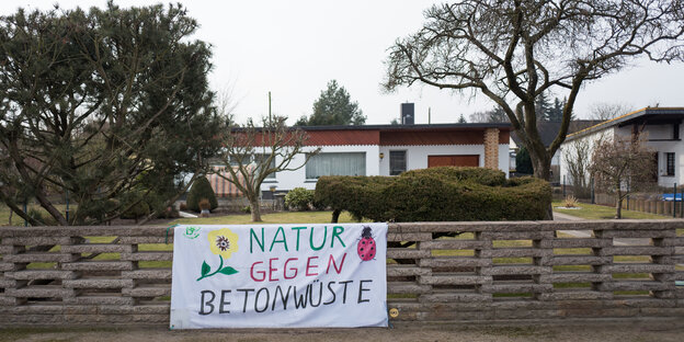
[{"label": "large spreading bare tree with thick dark trunk behind the hedge", "polygon": [[[423,29],[389,48],[384,87],[391,91],[418,81],[485,94],[529,150],[535,176],[549,180],[551,157],[566,138],[582,86],[641,56],[682,60],[683,16],[684,2],[671,0],[435,4],[425,11]],[[567,96],[561,127],[548,147],[535,113],[535,101],[546,91]]]}]

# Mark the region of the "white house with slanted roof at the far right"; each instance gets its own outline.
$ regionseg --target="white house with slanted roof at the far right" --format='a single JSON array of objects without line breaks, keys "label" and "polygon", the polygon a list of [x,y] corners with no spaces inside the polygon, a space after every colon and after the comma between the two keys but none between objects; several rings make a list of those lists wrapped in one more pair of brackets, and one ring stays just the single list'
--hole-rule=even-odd
[{"label": "white house with slanted roof at the far right", "polygon": [[[653,168],[658,174],[658,184],[672,186],[684,182],[684,136],[681,123],[684,109],[681,107],[646,107],[569,135],[561,145],[561,153],[572,155],[573,142],[586,141],[591,147],[602,138],[616,135],[630,136],[648,134],[648,146],[656,152]],[[592,152],[593,153],[593,149]],[[589,156],[591,158],[591,155]],[[567,167],[561,168],[561,176],[566,175],[571,184]]]}]

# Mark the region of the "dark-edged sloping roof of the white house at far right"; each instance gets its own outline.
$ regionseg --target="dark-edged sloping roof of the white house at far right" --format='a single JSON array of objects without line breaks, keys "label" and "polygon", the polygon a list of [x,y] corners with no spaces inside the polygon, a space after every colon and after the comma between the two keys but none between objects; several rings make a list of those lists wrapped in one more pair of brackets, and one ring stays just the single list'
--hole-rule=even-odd
[{"label": "dark-edged sloping roof of the white house at far right", "polygon": [[645,107],[570,134],[566,138],[566,141],[614,126],[623,127],[632,124],[670,124],[680,123],[683,118],[684,107]]}]

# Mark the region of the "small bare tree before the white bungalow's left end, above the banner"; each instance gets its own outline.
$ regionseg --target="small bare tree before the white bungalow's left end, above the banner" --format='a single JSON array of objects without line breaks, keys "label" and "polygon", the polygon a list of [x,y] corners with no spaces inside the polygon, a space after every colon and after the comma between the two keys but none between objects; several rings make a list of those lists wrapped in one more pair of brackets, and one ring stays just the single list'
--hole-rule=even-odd
[{"label": "small bare tree before the white bungalow's left end, above the banner", "polygon": [[[263,118],[256,127],[252,119],[242,127],[233,127],[224,137],[224,151],[220,156],[226,166],[218,175],[235,184],[250,203],[252,221],[261,221],[259,198],[261,184],[271,174],[294,171],[304,167],[320,148],[305,151],[308,135],[301,129],[285,125],[286,117]],[[304,155],[298,163],[297,155]]]}]

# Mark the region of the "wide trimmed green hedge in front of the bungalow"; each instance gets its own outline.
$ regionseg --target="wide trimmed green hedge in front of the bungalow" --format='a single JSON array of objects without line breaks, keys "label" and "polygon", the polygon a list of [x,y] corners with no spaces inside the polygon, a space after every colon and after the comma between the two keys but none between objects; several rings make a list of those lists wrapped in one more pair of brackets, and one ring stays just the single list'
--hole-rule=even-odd
[{"label": "wide trimmed green hedge in front of the bungalow", "polygon": [[374,221],[544,219],[548,182],[501,171],[442,167],[399,176],[321,176],[315,201]]}]

